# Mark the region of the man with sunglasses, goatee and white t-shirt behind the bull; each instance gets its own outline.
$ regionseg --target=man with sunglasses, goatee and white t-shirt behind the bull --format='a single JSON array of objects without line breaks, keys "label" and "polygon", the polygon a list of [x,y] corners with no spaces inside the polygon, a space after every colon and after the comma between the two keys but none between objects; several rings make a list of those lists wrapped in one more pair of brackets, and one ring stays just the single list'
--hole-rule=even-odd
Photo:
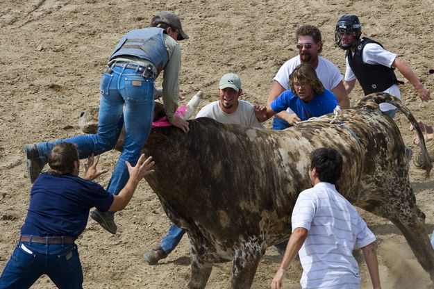
[{"label": "man with sunglasses, goatee and white t-shirt behind the bull", "polygon": [[[340,74],[339,69],[336,65],[331,63],[331,61],[319,56],[323,44],[319,29],[312,25],[300,26],[297,31],[295,31],[295,38],[297,40],[296,47],[299,50],[299,55],[287,60],[278,70],[276,76],[274,76],[274,83],[267,104],[271,104],[279,94],[290,88],[290,74],[292,74],[295,67],[301,63],[307,63],[315,68],[317,76],[324,85],[324,88],[335,94],[341,108],[349,108],[348,94],[342,82],[342,74]],[[278,113],[276,116],[277,117],[273,119],[273,129],[275,130],[286,129],[290,126],[290,124],[283,119],[293,119],[295,122],[297,117],[299,117],[290,110],[290,108]]]}]

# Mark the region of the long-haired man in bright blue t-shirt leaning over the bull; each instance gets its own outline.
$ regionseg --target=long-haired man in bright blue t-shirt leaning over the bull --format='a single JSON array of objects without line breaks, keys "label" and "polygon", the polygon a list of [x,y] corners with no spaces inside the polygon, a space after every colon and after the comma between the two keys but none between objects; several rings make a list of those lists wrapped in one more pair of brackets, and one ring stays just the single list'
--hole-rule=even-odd
[{"label": "long-haired man in bright blue t-shirt leaning over the bull", "polygon": [[310,117],[333,113],[338,105],[335,95],[319,81],[315,69],[301,64],[290,75],[290,89],[282,92],[267,106],[260,121],[264,122],[276,113],[291,108],[297,117],[287,117],[285,121],[294,125]]}]

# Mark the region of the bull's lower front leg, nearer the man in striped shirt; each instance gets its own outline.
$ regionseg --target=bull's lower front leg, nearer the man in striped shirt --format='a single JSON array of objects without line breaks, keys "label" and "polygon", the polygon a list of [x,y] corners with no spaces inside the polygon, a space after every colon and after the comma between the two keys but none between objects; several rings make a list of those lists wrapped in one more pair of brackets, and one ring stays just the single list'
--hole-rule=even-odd
[{"label": "bull's lower front leg, nearer the man in striped shirt", "polygon": [[260,249],[257,244],[246,245],[242,249],[235,250],[232,263],[232,289],[251,288],[260,258],[264,253],[265,249]]}]

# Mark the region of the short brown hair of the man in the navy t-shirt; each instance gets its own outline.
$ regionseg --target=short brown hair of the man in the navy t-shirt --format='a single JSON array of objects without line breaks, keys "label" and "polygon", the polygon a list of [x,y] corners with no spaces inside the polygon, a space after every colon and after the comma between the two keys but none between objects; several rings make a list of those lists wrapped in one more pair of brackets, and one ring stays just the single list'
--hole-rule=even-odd
[{"label": "short brown hair of the man in the navy t-shirt", "polygon": [[72,174],[74,161],[80,161],[76,145],[71,142],[60,142],[51,149],[48,155],[49,172],[56,175]]}]

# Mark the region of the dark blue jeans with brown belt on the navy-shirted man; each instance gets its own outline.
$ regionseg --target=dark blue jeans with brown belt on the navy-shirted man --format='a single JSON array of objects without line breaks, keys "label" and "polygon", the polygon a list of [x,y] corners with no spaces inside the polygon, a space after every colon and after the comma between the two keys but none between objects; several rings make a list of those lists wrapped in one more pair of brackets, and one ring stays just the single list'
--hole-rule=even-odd
[{"label": "dark blue jeans with brown belt on the navy-shirted man", "polygon": [[0,288],[30,288],[43,274],[60,289],[83,288],[83,271],[76,245],[19,242],[0,276]]}]

